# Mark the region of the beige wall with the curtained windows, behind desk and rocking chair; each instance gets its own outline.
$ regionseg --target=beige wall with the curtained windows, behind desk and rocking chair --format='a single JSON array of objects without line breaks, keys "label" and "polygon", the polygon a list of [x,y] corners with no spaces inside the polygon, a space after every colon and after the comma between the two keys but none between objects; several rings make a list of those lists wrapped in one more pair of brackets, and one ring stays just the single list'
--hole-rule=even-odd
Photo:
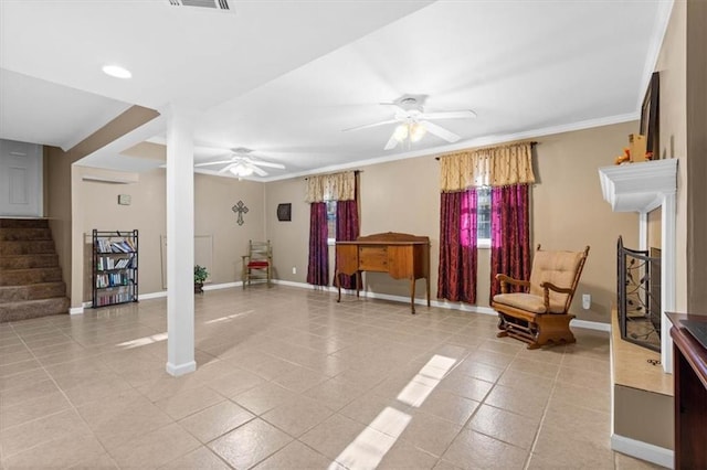
[{"label": "beige wall with the curtained windows, behind desk and rocking chair", "polygon": [[[613,163],[615,154],[635,132],[637,122],[542,137],[536,147],[538,184],[532,189],[532,242],[548,249],[582,249],[591,245],[578,293],[591,293],[592,307],[573,306],[578,318],[609,322],[615,301],[615,246],[619,235],[627,246],[637,246],[636,214],[613,213],[603,201],[598,168]],[[360,168],[361,235],[403,232],[429,236],[432,243],[432,297],[436,296],[440,242],[439,162],[434,156]],[[266,185],[267,236],[277,254],[277,277],[306,281],[309,209],[304,203],[304,179]],[[293,203],[293,222],[276,222],[277,203]],[[283,248],[287,247],[287,248]],[[303,266],[304,265],[304,266]],[[297,275],[292,267],[297,267]],[[333,270],[333,265],[331,270]],[[303,269],[304,267],[304,269]],[[333,274],[333,273],[331,273]],[[488,306],[489,250],[479,249],[477,298]],[[384,274],[368,274],[367,289],[376,293],[408,295],[408,284]],[[424,297],[418,281],[418,297]]]}]

